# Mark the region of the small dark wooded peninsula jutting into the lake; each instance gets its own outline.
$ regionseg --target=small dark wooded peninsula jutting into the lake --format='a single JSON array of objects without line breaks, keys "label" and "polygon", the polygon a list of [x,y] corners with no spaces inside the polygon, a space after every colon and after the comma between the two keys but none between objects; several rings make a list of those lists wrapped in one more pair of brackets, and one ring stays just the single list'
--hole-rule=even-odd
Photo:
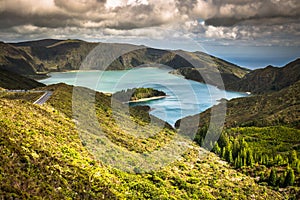
[{"label": "small dark wooded peninsula jutting into the lake", "polygon": [[119,100],[120,102],[136,101],[140,99],[161,96],[166,96],[166,93],[153,88],[133,88],[122,90],[113,94],[113,98]]}]

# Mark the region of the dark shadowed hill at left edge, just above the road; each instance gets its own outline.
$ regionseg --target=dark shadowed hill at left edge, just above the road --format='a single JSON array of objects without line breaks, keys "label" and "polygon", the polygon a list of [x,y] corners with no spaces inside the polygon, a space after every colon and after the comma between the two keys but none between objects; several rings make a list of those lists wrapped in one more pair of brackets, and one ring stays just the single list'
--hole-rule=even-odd
[{"label": "dark shadowed hill at left edge, just above the road", "polygon": [[30,78],[0,68],[0,87],[5,89],[33,89],[45,86]]}]

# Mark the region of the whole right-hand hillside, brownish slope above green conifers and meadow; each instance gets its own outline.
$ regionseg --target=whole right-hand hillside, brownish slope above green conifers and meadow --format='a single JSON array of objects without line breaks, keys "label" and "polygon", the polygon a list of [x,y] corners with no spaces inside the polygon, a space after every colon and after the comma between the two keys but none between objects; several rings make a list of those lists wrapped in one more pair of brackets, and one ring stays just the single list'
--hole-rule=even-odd
[{"label": "whole right-hand hillside, brownish slope above green conifers and meadow", "polygon": [[[213,152],[238,171],[256,178],[260,184],[280,188],[292,199],[299,199],[300,186],[300,81],[278,92],[223,100],[205,112],[187,117],[186,124],[197,128],[195,141],[200,146],[207,133],[211,110],[227,107],[224,129]],[[179,127],[181,120],[176,122]],[[208,134],[208,135],[207,135]],[[298,195],[298,196],[297,196]]]}]

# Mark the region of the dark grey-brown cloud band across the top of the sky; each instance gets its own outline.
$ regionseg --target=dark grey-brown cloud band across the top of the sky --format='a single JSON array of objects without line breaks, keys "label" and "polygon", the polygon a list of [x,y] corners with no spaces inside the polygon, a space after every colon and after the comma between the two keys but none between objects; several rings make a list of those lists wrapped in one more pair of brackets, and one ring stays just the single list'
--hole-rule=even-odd
[{"label": "dark grey-brown cloud band across the top of the sky", "polygon": [[37,2],[2,1],[0,28],[25,24],[51,28],[84,27],[87,22],[92,22],[99,27],[133,29],[197,18],[204,19],[207,25],[233,26],[247,20],[299,19],[300,16],[299,0],[149,0],[144,4],[139,3],[142,1],[116,1],[119,4],[111,9],[107,8],[109,2],[106,0]]}]

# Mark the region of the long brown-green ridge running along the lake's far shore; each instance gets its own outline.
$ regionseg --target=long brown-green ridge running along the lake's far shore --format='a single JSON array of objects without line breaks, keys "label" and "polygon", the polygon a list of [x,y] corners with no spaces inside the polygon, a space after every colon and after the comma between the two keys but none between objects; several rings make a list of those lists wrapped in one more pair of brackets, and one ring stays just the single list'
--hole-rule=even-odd
[{"label": "long brown-green ridge running along the lake's far shore", "polygon": [[[141,65],[162,64],[173,69],[199,68],[205,70],[207,74],[215,74],[216,69],[219,69],[224,77],[228,76],[228,79],[234,80],[240,79],[249,72],[247,69],[202,52],[168,51],[131,44],[45,39],[1,43],[1,47],[1,65],[22,75],[77,70],[95,47],[99,49],[98,52],[97,49],[95,50],[96,55],[92,58],[95,61],[83,69],[107,67],[108,70],[122,70]],[[113,57],[114,55],[116,57]]]}]

